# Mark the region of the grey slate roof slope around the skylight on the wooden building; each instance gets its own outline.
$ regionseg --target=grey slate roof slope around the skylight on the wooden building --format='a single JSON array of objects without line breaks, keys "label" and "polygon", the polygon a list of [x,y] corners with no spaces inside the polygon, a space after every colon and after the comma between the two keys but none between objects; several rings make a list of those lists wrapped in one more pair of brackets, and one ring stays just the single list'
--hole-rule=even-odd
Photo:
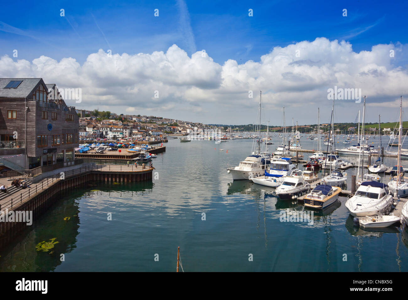
[{"label": "grey slate roof slope around the skylight on the wooden building", "polygon": [[[22,82],[16,89],[4,89],[11,80],[22,80]],[[40,82],[43,82],[42,78],[0,78],[0,98],[28,97]]]}]

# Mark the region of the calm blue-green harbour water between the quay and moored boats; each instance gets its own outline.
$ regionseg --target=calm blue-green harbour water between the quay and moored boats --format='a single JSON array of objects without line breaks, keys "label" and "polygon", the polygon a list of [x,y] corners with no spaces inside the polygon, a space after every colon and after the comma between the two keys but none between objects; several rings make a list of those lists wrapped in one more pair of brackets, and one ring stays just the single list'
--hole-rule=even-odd
[{"label": "calm blue-green harbour water between the quay and moored boats", "polygon": [[[271,151],[281,141],[273,142]],[[301,142],[317,149],[306,135]],[[273,189],[249,181],[233,182],[226,173],[227,165],[250,154],[252,140],[216,145],[171,139],[165,145],[153,160],[159,176],[153,182],[67,191],[0,251],[0,271],[175,271],[177,246],[184,271],[408,271],[407,230],[357,230],[346,198],[315,213],[313,225],[280,222],[280,211],[302,211],[303,205],[278,200]],[[385,162],[391,166],[396,159]],[[408,160],[403,164],[408,167]],[[355,170],[347,173],[351,178]],[[53,253],[35,250],[51,238],[59,242]]]}]

